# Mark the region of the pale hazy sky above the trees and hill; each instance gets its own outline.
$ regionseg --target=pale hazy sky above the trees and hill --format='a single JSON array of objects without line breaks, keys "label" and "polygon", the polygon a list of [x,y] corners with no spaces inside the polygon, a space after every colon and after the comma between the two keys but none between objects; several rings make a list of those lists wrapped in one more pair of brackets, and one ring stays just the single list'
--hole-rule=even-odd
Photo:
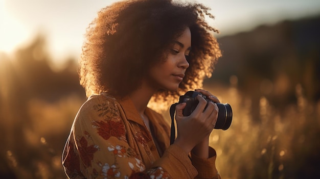
[{"label": "pale hazy sky above the trees and hill", "polygon": [[[47,37],[49,52],[59,63],[78,58],[83,34],[97,12],[117,0],[0,0],[0,52],[12,54],[39,33]],[[320,15],[319,0],[198,0],[209,6],[210,24],[232,35],[261,24]],[[0,59],[1,60],[1,59]]]}]

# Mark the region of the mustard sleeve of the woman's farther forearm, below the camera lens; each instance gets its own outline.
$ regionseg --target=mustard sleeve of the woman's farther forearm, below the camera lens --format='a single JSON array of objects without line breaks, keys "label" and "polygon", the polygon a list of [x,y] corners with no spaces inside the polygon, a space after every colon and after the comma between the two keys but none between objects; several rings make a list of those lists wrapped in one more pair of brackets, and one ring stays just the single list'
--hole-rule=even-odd
[{"label": "mustard sleeve of the woman's farther forearm, below the camera lens", "polygon": [[195,178],[220,179],[221,176],[216,168],[216,151],[209,147],[209,159],[203,159],[191,152],[192,165],[197,169],[198,175]]}]

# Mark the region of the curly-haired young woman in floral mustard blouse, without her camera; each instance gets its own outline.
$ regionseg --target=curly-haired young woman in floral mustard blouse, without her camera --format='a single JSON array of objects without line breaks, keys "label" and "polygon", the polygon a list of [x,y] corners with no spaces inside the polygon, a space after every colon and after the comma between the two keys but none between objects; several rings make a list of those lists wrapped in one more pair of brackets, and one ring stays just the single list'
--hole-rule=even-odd
[{"label": "curly-haired young woman in floral mustard blouse, without her camera", "polygon": [[[80,60],[87,101],[67,139],[69,178],[220,178],[209,147],[217,106],[201,96],[190,116],[176,106],[177,138],[151,110],[210,77],[221,56],[217,32],[197,3],[133,0],[112,4],[89,25]],[[216,103],[210,92],[196,90]],[[158,110],[158,109],[155,109]]]}]

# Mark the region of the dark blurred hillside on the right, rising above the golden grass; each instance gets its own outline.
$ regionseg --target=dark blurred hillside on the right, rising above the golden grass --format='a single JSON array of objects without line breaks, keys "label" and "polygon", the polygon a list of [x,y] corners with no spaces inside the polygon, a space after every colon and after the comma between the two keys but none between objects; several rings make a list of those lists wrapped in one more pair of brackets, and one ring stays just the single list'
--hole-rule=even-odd
[{"label": "dark blurred hillside on the right, rising above the golden grass", "polygon": [[295,103],[297,84],[310,101],[320,99],[320,15],[261,25],[218,42],[223,57],[206,84],[228,85],[236,75],[244,95],[267,96],[278,107]]}]

